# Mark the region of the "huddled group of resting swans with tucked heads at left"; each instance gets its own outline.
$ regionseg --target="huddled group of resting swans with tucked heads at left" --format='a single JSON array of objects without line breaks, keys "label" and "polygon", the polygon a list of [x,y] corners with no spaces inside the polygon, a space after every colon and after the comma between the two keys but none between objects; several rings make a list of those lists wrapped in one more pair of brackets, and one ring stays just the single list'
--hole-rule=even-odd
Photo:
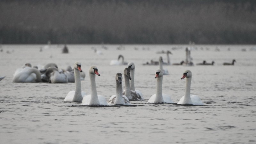
[{"label": "huddled group of resting swans with tucked heads at left", "polygon": [[[84,80],[85,73],[81,74],[81,79]],[[75,76],[74,70],[69,66],[66,70],[58,69],[55,63],[48,63],[42,69],[37,66],[31,67],[27,63],[21,68],[18,68],[13,74],[14,83],[36,83],[36,82],[49,82],[49,83],[74,83]]]}]

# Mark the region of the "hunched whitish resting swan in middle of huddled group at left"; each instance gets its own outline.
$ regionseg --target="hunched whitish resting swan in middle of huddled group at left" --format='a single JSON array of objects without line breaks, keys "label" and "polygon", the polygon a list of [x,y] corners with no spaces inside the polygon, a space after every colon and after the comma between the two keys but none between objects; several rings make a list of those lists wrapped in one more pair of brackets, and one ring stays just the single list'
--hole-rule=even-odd
[{"label": "hunched whitish resting swan in middle of huddled group at left", "polygon": [[[46,82],[49,83],[68,83],[68,77],[63,72],[60,72],[55,67],[47,68],[45,76],[49,79]],[[43,79],[43,75],[42,75]]]}]

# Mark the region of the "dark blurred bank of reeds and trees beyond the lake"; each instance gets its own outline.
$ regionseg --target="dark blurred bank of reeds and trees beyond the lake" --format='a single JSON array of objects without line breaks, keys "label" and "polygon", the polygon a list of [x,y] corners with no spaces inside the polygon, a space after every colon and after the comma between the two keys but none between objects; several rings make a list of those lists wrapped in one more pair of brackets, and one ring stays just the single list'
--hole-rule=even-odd
[{"label": "dark blurred bank of reeds and trees beyond the lake", "polygon": [[2,44],[256,44],[255,0],[1,0]]}]

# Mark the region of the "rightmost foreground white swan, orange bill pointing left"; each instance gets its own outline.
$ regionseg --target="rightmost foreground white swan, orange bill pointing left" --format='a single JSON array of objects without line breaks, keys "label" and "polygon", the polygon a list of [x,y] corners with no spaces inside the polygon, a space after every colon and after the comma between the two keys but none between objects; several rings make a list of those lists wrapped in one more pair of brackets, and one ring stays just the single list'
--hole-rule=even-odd
[{"label": "rightmost foreground white swan, orange bill pointing left", "polygon": [[201,101],[201,99],[197,95],[190,95],[192,72],[190,70],[186,70],[180,79],[183,79],[185,77],[187,78],[186,87],[185,87],[185,96],[180,98],[180,101],[177,104],[204,105],[204,103]]}]

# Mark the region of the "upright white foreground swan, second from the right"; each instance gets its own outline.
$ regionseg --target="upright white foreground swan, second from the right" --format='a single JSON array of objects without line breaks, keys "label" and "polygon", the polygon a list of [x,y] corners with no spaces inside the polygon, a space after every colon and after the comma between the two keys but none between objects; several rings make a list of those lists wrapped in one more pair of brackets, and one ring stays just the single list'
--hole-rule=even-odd
[{"label": "upright white foreground swan, second from the right", "polygon": [[163,76],[162,70],[156,69],[156,94],[150,97],[148,103],[173,103],[170,95],[162,93]]}]

